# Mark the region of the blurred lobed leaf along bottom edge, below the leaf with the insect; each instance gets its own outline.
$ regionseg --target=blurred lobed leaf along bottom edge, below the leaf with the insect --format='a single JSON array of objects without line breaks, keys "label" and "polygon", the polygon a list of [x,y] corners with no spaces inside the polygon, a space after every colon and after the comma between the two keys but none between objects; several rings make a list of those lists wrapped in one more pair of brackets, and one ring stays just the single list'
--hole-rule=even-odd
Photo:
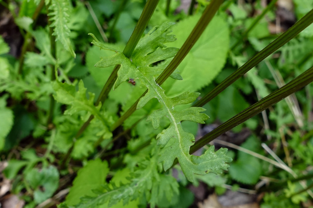
[{"label": "blurred lobed leaf along bottom edge, below the leaf with the insect", "polygon": [[154,208],[156,203],[163,198],[163,195],[170,201],[174,193],[179,193],[179,184],[171,175],[164,175],[158,172],[157,155],[144,159],[137,170],[132,173],[129,184],[116,186],[114,183],[104,185],[102,189],[93,190],[96,196],[85,196],[76,208],[96,208],[98,205],[108,203],[111,207],[123,200],[126,205],[129,201],[145,197]]}]

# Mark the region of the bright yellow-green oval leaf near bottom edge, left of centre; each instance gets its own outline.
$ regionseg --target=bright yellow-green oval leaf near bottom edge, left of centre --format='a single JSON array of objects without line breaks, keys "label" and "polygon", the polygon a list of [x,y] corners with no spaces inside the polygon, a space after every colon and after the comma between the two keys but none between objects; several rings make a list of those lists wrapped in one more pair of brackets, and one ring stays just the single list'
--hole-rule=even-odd
[{"label": "bright yellow-green oval leaf near bottom edge, left of centre", "polygon": [[108,172],[107,161],[89,160],[86,166],[78,171],[73,181],[73,187],[67,195],[66,204],[69,206],[77,205],[81,197],[95,196],[92,190],[106,184]]}]

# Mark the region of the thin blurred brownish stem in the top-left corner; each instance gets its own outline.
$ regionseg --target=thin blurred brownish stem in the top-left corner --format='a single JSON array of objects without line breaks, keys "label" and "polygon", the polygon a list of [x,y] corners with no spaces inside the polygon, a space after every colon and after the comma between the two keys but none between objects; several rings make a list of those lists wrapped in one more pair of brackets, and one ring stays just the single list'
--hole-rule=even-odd
[{"label": "thin blurred brownish stem in the top-left corner", "polygon": [[[36,25],[36,20],[40,14],[40,11],[43,9],[45,5],[45,0],[41,0],[32,16],[32,20],[33,20],[33,24],[32,24],[32,28],[35,27]],[[25,59],[25,53],[27,51],[27,47],[28,47],[28,43],[30,42],[30,38],[31,38],[31,34],[30,32],[26,33],[26,36],[24,38],[24,43],[22,46],[22,52],[21,52],[21,56],[20,56],[20,62],[19,62],[19,71],[18,73],[21,75],[22,74],[22,70],[23,70],[23,65],[24,65],[24,59]]]}]

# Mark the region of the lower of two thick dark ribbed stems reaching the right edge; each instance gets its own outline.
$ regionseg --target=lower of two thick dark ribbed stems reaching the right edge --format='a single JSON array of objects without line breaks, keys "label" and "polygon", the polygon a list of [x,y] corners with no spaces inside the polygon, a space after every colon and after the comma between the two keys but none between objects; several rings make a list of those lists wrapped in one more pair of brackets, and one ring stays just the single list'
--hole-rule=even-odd
[{"label": "lower of two thick dark ribbed stems reaching the right edge", "polygon": [[190,153],[199,150],[201,147],[203,147],[213,139],[217,138],[224,132],[231,130],[232,128],[238,126],[239,124],[253,117],[254,115],[261,113],[262,111],[279,102],[280,100],[284,99],[285,97],[305,87],[312,81],[313,81],[313,67],[311,67],[306,72],[293,79],[291,82],[289,82],[282,88],[276,90],[275,92],[271,93],[270,95],[266,96],[265,98],[255,103],[254,105],[246,108],[241,113],[235,115],[234,117],[223,123],[221,126],[216,128],[212,132],[209,132],[206,135],[204,135],[190,148]]}]

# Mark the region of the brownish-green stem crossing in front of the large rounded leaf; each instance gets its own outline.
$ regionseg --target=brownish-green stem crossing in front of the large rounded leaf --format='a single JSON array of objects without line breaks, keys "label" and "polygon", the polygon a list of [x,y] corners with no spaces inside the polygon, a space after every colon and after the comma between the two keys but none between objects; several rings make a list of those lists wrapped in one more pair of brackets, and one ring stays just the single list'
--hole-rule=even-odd
[{"label": "brownish-green stem crossing in front of the large rounded leaf", "polygon": [[[219,9],[220,5],[223,3],[222,0],[212,0],[211,3],[205,8],[201,18],[199,19],[197,25],[194,27],[192,32],[190,33],[187,40],[181,46],[177,55],[173,58],[173,60],[169,63],[169,65],[165,68],[165,70],[157,77],[156,83],[158,85],[162,85],[164,81],[175,71],[180,62],[186,57],[191,48],[200,38],[206,26],[209,24],[211,19],[213,19],[215,13]],[[148,91],[144,92],[143,95],[139,97],[143,97]],[[122,123],[136,110],[136,106],[139,102],[139,99],[132,105],[130,109],[127,110],[112,126],[111,130],[115,130],[117,127],[122,125]]]}]

